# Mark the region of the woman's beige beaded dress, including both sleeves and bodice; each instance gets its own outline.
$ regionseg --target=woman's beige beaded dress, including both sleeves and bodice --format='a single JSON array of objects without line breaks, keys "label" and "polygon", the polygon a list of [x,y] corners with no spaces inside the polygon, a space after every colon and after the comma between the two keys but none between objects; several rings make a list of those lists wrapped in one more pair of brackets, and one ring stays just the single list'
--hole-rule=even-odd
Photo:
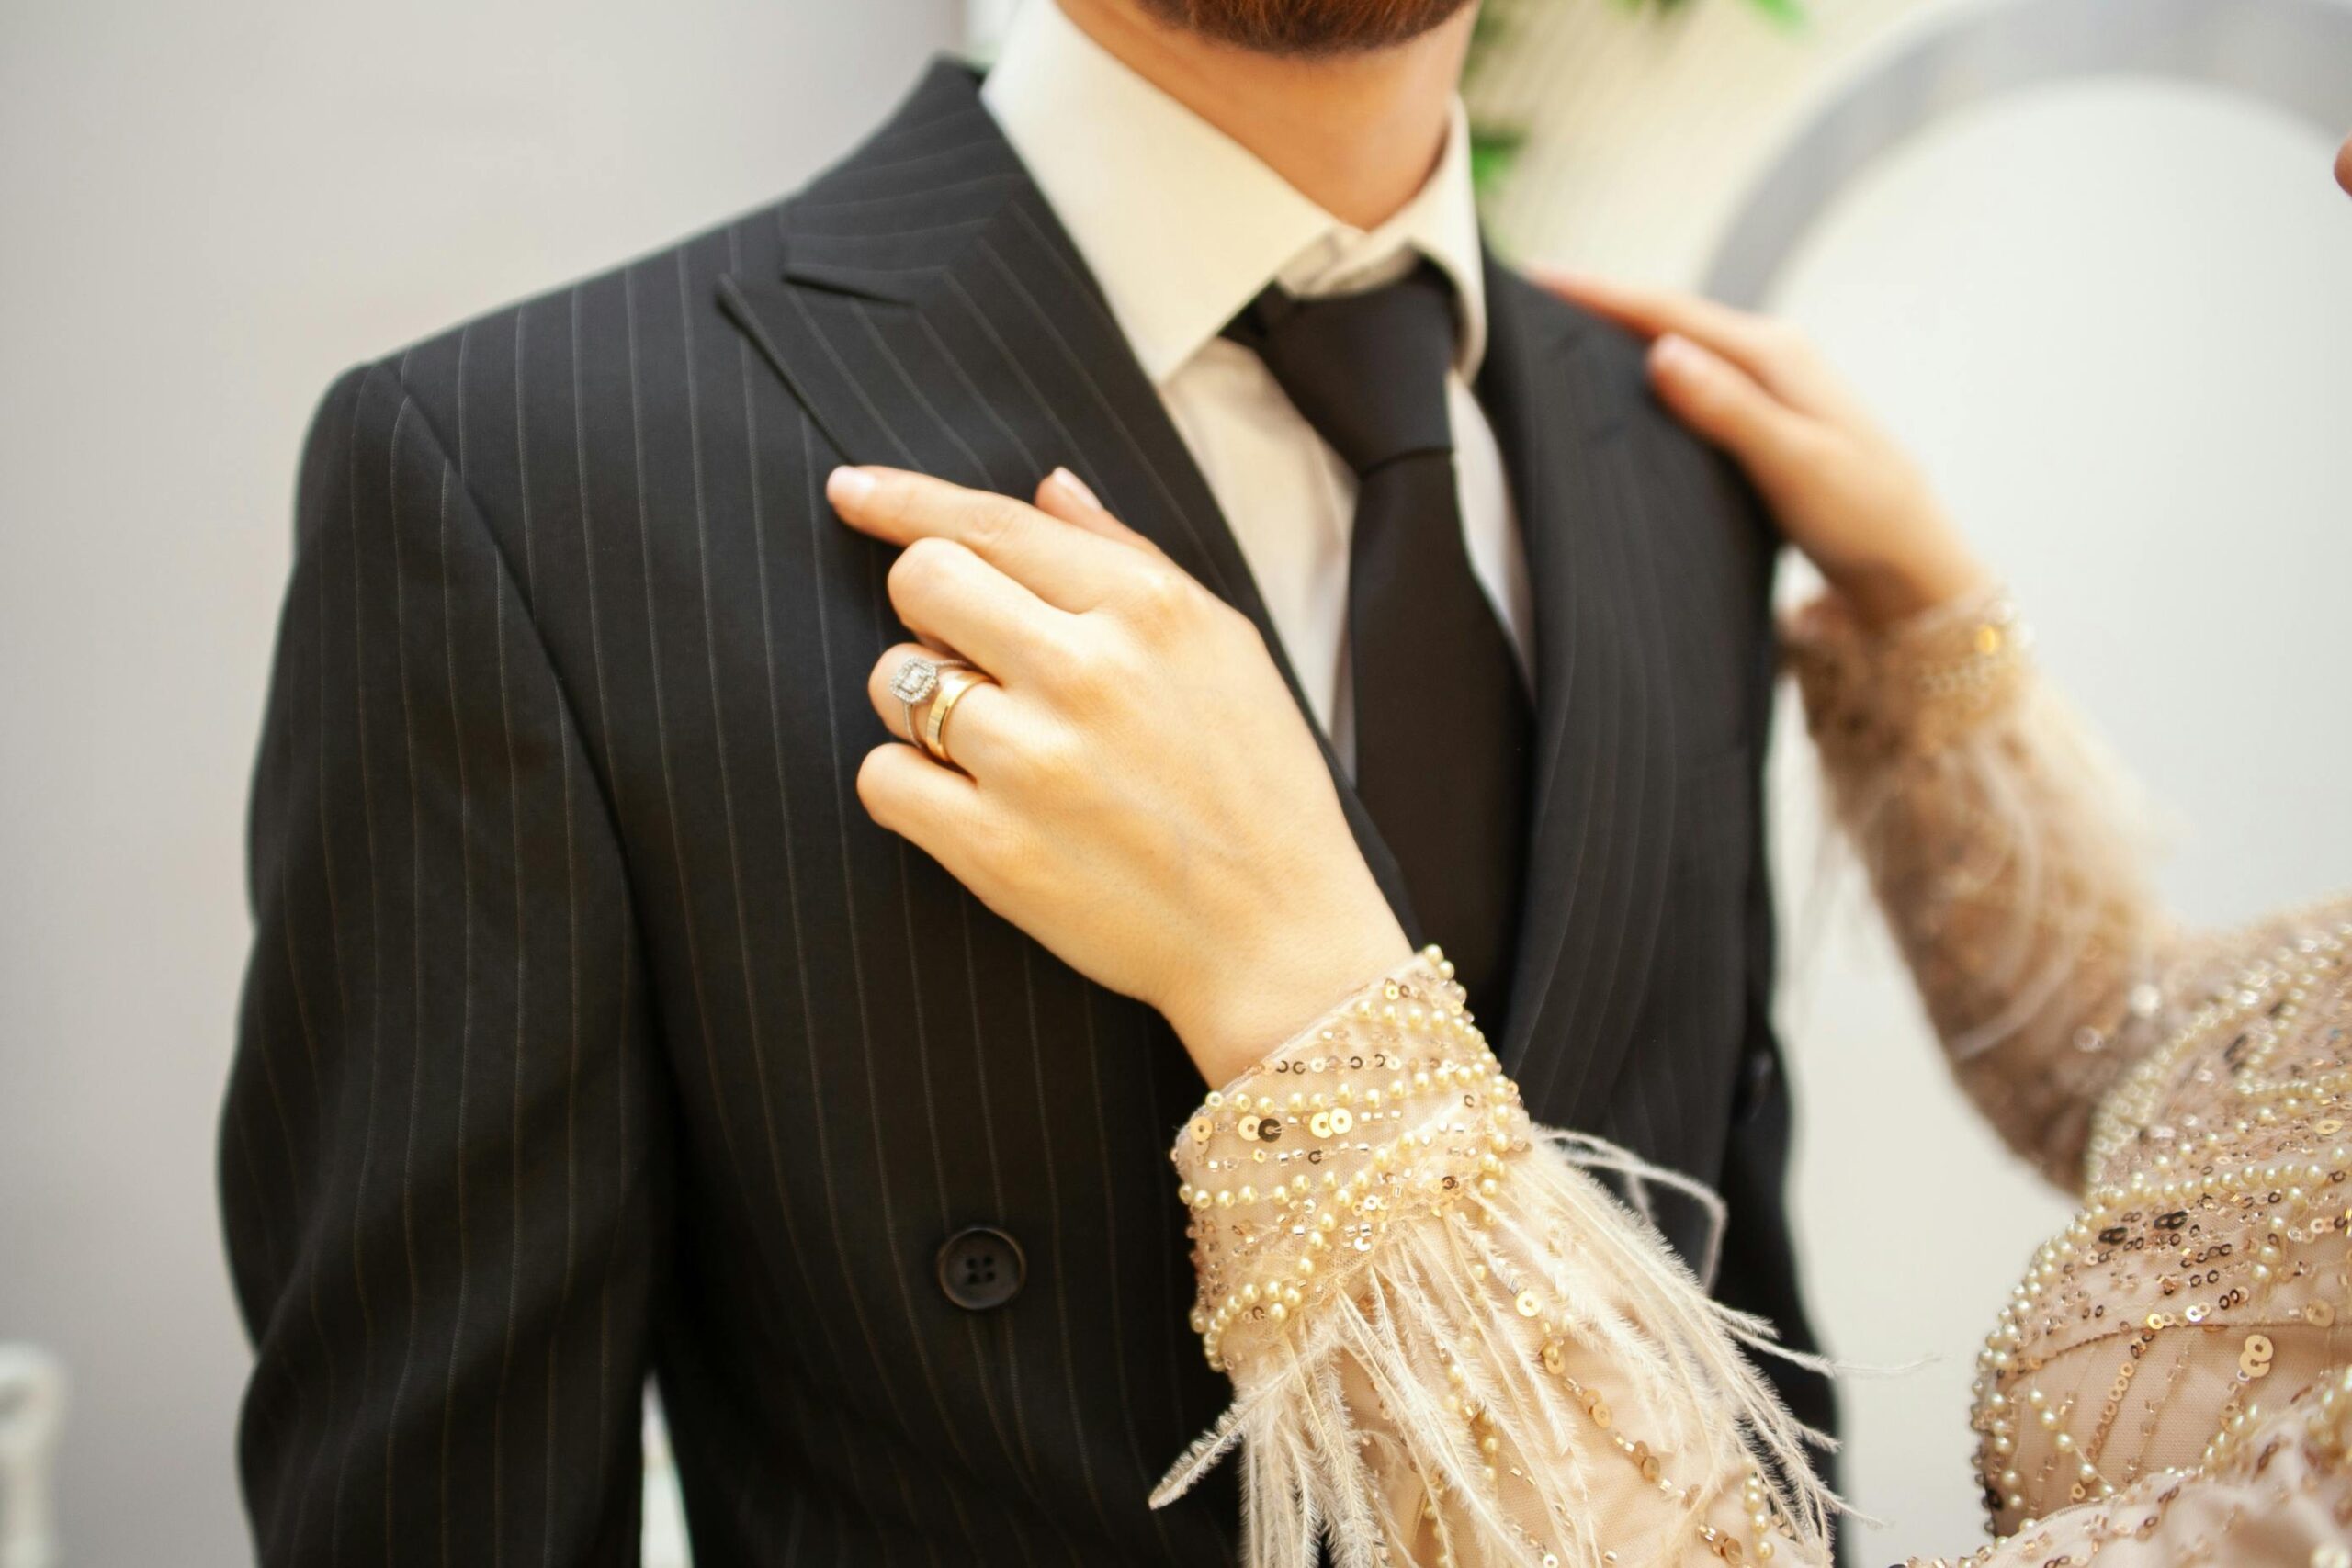
[{"label": "woman's beige beaded dress, including both sleeves and bodice", "polygon": [[[1985,1345],[1962,1561],[2352,1568],[2352,903],[2178,933],[1997,597],[1886,635],[1816,604],[1790,656],[1959,1084],[2084,1194]],[[1769,1328],[1592,1171],[1675,1178],[1529,1124],[1435,952],[1174,1159],[1235,1403],[1155,1502],[1240,1446],[1254,1568],[1828,1561]]]}]

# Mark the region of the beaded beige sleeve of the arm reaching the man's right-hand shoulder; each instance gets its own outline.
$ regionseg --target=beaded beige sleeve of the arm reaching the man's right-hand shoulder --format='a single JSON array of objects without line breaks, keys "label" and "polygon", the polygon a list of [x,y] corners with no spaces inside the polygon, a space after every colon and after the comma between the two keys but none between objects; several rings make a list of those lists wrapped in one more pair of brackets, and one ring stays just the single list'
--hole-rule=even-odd
[{"label": "beaded beige sleeve of the arm reaching the man's right-hand shoulder", "polygon": [[1830,809],[1870,870],[1952,1067],[2058,1185],[2091,1110],[2161,1032],[2194,954],[2143,875],[2143,811],[1985,595],[1886,632],[1825,597],[1790,665]]}]

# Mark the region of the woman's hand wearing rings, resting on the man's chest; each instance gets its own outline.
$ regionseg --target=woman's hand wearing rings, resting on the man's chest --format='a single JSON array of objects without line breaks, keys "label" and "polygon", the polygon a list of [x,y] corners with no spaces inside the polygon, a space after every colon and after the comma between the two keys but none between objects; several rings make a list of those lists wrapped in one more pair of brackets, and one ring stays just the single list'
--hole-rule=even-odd
[{"label": "woman's hand wearing rings, resting on the man's chest", "polygon": [[[858,771],[882,827],[1160,1009],[1211,1084],[1411,952],[1256,625],[1073,475],[1035,505],[887,468],[826,494],[903,545],[889,597],[922,637],[868,677],[901,741]],[[995,682],[950,708],[955,769],[906,745],[891,693],[934,649]]]}]

